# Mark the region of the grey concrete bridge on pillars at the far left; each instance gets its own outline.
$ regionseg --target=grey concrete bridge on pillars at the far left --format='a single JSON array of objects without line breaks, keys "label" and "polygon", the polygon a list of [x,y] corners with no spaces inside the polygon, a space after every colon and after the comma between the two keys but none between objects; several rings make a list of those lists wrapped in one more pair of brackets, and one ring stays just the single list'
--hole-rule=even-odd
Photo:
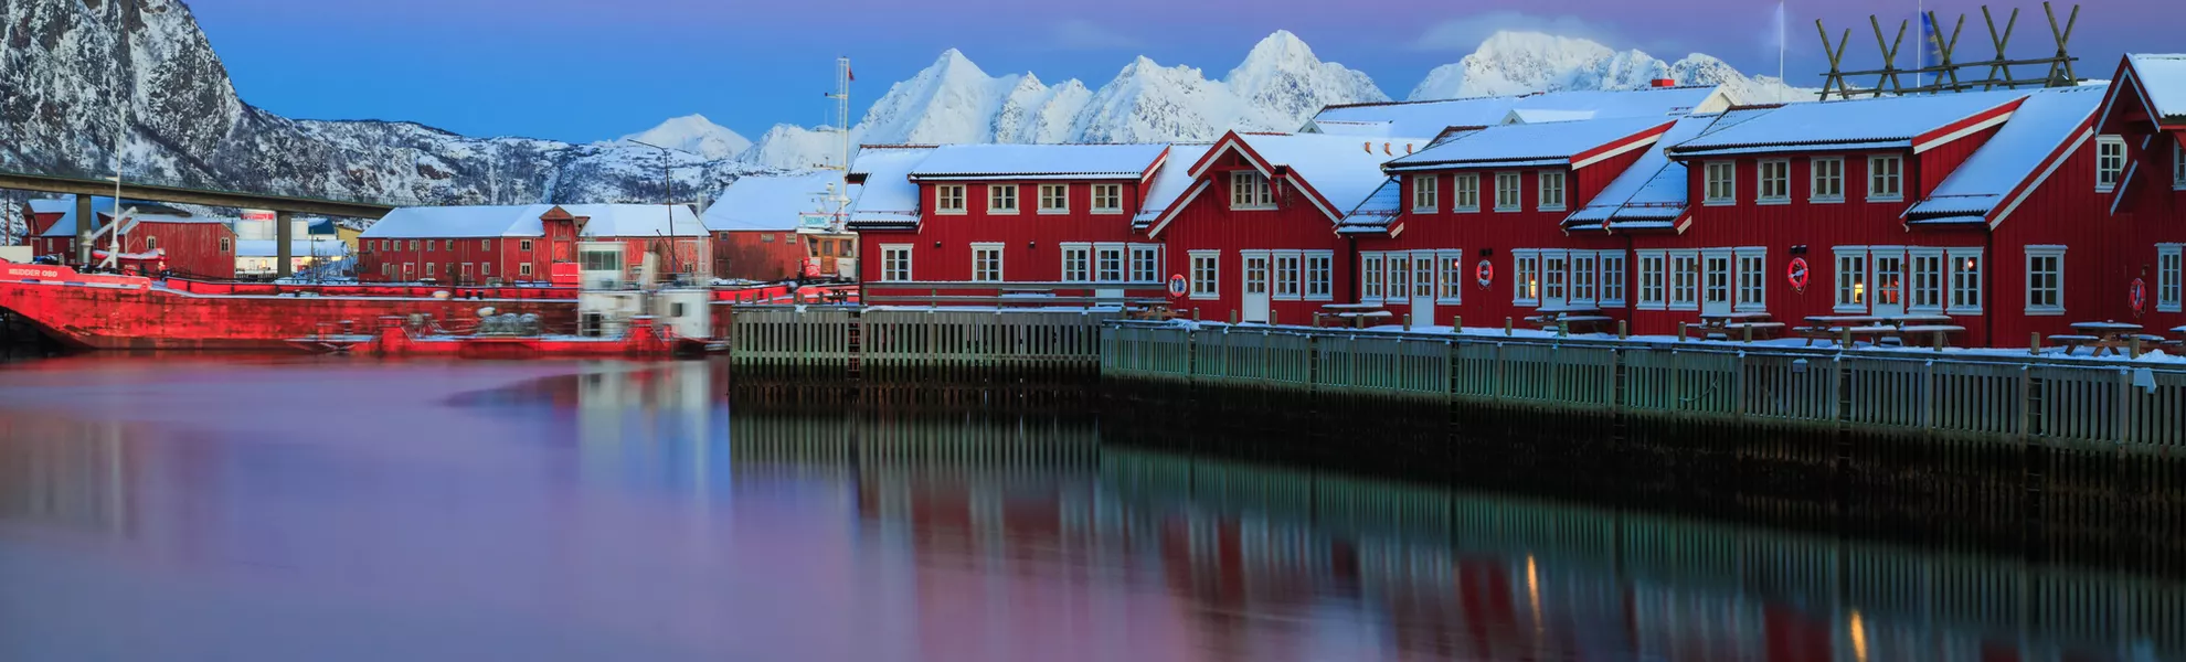
[{"label": "grey concrete bridge on pillars at the far left", "polygon": [[[77,197],[77,262],[92,262],[92,232],[98,225],[98,216],[92,214],[92,197],[114,194],[114,179],[83,179],[83,177],[61,177],[61,175],[35,175],[35,173],[0,173],[0,188],[15,190],[42,190],[61,192]],[[181,203],[181,205],[210,205],[210,208],[243,208],[243,210],[271,210],[275,216],[275,275],[293,275],[293,238],[291,218],[295,214],[313,216],[350,216],[350,218],[380,218],[393,212],[393,205],[383,203],[359,203],[359,201],[332,201],[332,199],[308,199],[308,197],[282,197],[282,194],[258,194],[258,192],[234,192],[234,190],[210,190],[210,188],[186,188],[186,186],[160,186],[142,181],[122,181],[122,199],[157,201],[157,203]]]}]

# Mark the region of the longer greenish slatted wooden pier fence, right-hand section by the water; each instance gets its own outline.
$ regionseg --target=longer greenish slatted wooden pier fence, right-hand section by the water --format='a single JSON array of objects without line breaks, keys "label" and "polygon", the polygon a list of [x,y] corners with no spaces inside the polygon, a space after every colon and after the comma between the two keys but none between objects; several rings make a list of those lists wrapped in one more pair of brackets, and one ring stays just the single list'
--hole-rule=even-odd
[{"label": "longer greenish slatted wooden pier fence, right-hand section by the water", "polygon": [[2186,365],[1110,321],[1102,378],[2083,446],[2186,446]]}]

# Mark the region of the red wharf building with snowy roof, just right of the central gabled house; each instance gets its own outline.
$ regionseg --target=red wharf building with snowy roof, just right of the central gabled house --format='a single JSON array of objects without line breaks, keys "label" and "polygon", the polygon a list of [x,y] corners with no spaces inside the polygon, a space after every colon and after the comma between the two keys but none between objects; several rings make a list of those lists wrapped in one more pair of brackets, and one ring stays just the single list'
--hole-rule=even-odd
[{"label": "red wharf building with snowy roof, just right of the central gabled house", "polygon": [[[1358,238],[1360,302],[1417,326],[1500,326],[1565,304],[1626,302],[1626,243],[1567,234],[1587,208],[1674,127],[1615,118],[1458,127],[1388,162],[1386,181],[1344,221]],[[1467,302],[1469,299],[1469,302]]]}]

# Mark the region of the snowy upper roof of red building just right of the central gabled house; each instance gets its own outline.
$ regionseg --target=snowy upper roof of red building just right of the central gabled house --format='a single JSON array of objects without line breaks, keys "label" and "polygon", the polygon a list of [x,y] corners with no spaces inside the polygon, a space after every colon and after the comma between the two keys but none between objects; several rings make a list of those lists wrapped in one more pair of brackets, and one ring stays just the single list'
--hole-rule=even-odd
[{"label": "snowy upper roof of red building just right of the central gabled house", "polygon": [[1563,166],[1574,157],[1655,133],[1670,118],[1611,118],[1548,125],[1502,125],[1445,140],[1432,149],[1388,162],[1384,170],[1430,170],[1462,166]]}]

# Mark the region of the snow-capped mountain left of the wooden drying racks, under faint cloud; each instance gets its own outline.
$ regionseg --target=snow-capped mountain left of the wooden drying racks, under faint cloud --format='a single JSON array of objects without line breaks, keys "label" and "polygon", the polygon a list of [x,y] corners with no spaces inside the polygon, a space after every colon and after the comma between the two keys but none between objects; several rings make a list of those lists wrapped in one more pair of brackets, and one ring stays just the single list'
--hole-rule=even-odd
[{"label": "snow-capped mountain left of the wooden drying racks, under faint cloud", "polygon": [[1427,72],[1410,101],[1502,96],[1550,90],[1640,90],[1655,79],[1723,85],[1740,103],[1814,101],[1814,90],[1775,76],[1747,76],[1709,55],[1666,63],[1640,50],[1543,33],[1495,33],[1473,55]]}]

